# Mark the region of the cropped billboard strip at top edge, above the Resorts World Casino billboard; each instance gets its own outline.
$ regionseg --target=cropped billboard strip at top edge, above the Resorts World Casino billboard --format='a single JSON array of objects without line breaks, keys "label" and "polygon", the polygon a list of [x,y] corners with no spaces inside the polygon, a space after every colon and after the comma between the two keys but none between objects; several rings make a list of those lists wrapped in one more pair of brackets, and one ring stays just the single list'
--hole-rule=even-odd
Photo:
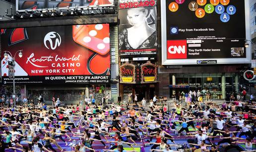
[{"label": "cropped billboard strip at top edge, above the Resorts World Casino billboard", "polygon": [[112,6],[113,0],[16,0],[16,10],[64,8],[66,6]]}]

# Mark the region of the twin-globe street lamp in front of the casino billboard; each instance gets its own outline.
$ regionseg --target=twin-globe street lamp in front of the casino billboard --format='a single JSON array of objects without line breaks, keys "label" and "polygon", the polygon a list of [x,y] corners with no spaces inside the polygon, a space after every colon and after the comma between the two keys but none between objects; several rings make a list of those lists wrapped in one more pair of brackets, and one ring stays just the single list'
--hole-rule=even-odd
[{"label": "twin-globe street lamp in front of the casino billboard", "polygon": [[11,52],[9,51],[4,51],[4,58],[7,58],[8,57],[8,54],[11,56],[11,61],[12,61],[12,66],[13,66],[13,69],[12,69],[12,83],[13,83],[13,94],[12,94],[12,99],[13,99],[13,103],[14,103],[14,106],[16,106],[16,100],[15,100],[15,97],[16,97],[16,93],[15,93],[15,80],[14,80],[14,77],[15,77],[15,56],[17,54],[17,52],[19,52],[19,57],[22,57],[22,50],[18,50],[15,52],[14,56],[11,55]]}]

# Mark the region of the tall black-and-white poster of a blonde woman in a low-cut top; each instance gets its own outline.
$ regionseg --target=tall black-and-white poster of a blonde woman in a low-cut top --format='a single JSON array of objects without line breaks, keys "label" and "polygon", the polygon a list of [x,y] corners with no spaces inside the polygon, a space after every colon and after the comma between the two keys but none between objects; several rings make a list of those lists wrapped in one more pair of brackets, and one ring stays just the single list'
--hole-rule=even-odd
[{"label": "tall black-and-white poster of a blonde woman in a low-cut top", "polygon": [[120,56],[156,55],[156,6],[119,10]]}]

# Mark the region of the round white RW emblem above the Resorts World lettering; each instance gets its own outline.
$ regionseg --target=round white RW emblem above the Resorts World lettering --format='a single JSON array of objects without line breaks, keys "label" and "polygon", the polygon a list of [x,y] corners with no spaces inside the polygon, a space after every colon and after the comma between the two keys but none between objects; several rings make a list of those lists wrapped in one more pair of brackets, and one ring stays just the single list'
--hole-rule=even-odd
[{"label": "round white RW emblem above the Resorts World lettering", "polygon": [[[55,41],[55,44],[53,43]],[[49,42],[49,43],[47,43]],[[55,50],[57,47],[60,47],[62,43],[62,38],[59,33],[57,32],[49,32],[45,35],[44,38],[44,45],[47,49]],[[48,45],[50,44],[50,48]]]}]

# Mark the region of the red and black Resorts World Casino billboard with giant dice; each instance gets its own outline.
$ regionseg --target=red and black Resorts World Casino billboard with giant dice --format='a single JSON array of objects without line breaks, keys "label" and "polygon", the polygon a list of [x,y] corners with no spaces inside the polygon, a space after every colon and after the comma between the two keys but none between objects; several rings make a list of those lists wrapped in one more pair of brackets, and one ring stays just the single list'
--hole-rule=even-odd
[{"label": "red and black Resorts World Casino billboard with giant dice", "polygon": [[[12,83],[11,56],[15,56],[17,83],[108,83],[110,80],[109,24],[1,29],[1,50],[4,84]],[[19,50],[22,57],[18,55]]]}]

